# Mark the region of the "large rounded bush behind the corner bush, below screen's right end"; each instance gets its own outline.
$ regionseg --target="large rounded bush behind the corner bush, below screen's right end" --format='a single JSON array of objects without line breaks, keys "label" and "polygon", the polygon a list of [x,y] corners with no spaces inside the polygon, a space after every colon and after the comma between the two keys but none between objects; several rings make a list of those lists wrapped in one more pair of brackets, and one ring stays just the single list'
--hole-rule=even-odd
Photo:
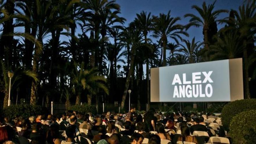
[{"label": "large rounded bush behind the corner bush, below screen's right end", "polygon": [[248,110],[256,110],[256,99],[242,99],[226,104],[221,111],[221,122],[224,129],[229,130],[230,121],[236,114]]}]

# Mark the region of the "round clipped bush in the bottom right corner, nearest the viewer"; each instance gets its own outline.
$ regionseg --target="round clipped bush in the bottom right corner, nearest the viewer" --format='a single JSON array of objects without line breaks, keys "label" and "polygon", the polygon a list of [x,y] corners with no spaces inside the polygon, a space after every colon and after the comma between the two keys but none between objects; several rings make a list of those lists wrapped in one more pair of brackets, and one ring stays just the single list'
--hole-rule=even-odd
[{"label": "round clipped bush in the bottom right corner, nearest the viewer", "polygon": [[230,122],[229,134],[234,144],[255,143],[256,110],[243,111],[234,116]]}]

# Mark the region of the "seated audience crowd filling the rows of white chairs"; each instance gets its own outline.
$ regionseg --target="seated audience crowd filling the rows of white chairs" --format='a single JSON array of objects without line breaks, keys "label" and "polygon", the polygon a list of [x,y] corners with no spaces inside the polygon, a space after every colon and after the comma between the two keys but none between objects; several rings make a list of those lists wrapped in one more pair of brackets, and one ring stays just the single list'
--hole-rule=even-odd
[{"label": "seated audience crowd filling the rows of white chairs", "polygon": [[[154,109],[137,114],[133,107],[126,114],[107,112],[93,115],[90,112],[68,111],[60,116],[37,115],[14,119],[6,116],[0,123],[0,143],[141,144],[145,138],[149,144],[160,144],[161,140],[204,143],[204,140],[191,134],[193,131],[205,131],[211,135],[206,117],[214,116],[189,112],[163,114]],[[178,131],[180,134],[177,134]]]}]

